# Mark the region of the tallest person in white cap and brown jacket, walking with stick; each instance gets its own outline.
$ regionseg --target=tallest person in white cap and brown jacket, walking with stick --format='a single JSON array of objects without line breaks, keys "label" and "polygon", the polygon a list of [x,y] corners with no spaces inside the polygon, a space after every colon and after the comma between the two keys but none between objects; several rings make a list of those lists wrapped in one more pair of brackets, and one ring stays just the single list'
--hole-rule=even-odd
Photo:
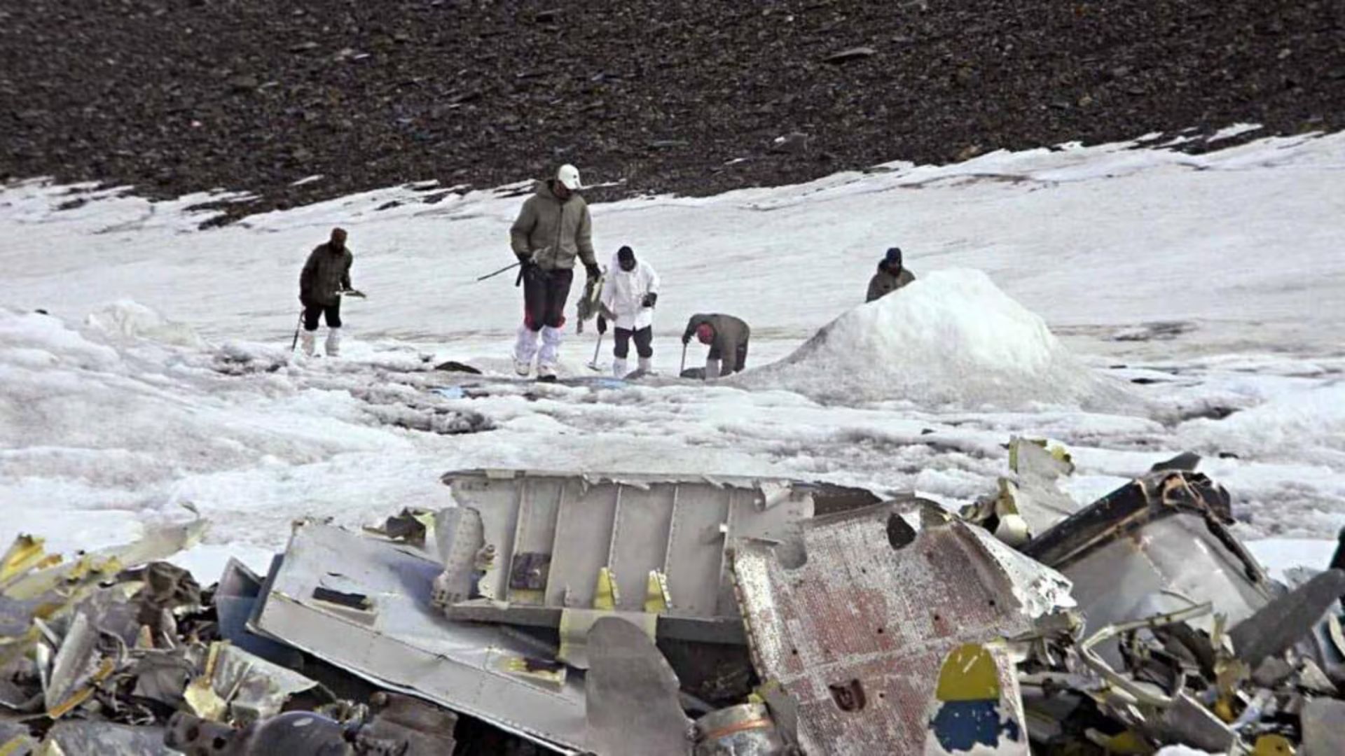
[{"label": "tallest person in white cap and brown jacket, walking with stick", "polygon": [[[603,274],[593,256],[593,223],[578,195],[580,172],[561,165],[555,179],[538,182],[510,227],[510,246],[523,281],[523,324],[514,343],[514,370],[527,375],[537,358],[537,377],[555,378],[565,326],[565,301],[574,280],[574,258],[590,280]],[[538,335],[542,344],[538,348]]]}]

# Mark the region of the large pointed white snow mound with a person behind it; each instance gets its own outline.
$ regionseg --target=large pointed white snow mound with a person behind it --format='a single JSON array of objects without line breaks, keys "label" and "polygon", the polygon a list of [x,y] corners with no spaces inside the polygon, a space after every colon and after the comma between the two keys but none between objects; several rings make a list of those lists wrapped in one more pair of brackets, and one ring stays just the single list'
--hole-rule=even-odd
[{"label": "large pointed white snow mound with a person behind it", "polygon": [[917,405],[1141,402],[1092,371],[1045,322],[981,270],[936,270],[837,317],[794,354],[744,375],[826,402],[905,400]]}]

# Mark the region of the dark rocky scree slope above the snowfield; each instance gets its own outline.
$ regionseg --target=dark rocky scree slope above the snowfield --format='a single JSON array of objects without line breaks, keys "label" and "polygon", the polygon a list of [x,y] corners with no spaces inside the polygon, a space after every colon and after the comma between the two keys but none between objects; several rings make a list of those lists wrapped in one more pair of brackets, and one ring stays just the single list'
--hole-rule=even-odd
[{"label": "dark rocky scree slope above the snowfield", "polygon": [[[0,180],[260,195],[233,217],[422,179],[499,186],[562,159],[624,179],[601,200],[1235,122],[1266,126],[1243,140],[1345,126],[1340,3],[62,8],[4,5]],[[791,132],[812,139],[773,141]],[[312,174],[327,178],[293,186]]]}]

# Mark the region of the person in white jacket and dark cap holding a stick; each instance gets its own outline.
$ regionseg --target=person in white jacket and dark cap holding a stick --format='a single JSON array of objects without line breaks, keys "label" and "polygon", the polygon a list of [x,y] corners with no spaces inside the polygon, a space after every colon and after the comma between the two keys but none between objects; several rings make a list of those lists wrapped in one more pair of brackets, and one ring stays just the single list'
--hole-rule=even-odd
[{"label": "person in white jacket and dark cap holding a stick", "polygon": [[648,373],[654,356],[654,305],[659,300],[659,274],[635,258],[635,250],[623,246],[612,258],[607,282],[603,285],[603,313],[597,316],[597,332],[607,332],[607,320],[616,327],[616,344],[612,347],[612,375],[621,378],[625,371],[625,356],[635,340],[635,351],[640,355],[640,373]]}]

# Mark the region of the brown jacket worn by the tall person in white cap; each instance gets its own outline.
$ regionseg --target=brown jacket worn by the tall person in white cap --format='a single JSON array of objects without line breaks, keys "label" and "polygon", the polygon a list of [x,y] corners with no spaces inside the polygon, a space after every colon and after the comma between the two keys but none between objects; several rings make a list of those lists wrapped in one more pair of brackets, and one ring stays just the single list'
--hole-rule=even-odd
[{"label": "brown jacket worn by the tall person in white cap", "polygon": [[542,270],[570,270],[576,256],[584,265],[597,265],[588,203],[578,192],[561,202],[550,182],[537,183],[537,192],[523,202],[508,235],[514,254]]}]

